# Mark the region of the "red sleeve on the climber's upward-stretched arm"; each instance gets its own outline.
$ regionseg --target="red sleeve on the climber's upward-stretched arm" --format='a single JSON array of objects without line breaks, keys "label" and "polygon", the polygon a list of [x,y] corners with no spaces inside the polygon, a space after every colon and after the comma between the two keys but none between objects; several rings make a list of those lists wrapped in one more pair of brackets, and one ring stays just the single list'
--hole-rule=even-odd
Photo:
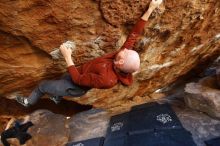
[{"label": "red sleeve on the climber's upward-stretched arm", "polygon": [[139,21],[135,24],[135,26],[131,30],[131,33],[128,35],[128,38],[123,44],[123,46],[121,47],[121,49],[125,49],[125,48],[132,49],[133,48],[135,42],[137,41],[138,37],[142,33],[146,23],[147,21],[143,19],[139,19]]}]

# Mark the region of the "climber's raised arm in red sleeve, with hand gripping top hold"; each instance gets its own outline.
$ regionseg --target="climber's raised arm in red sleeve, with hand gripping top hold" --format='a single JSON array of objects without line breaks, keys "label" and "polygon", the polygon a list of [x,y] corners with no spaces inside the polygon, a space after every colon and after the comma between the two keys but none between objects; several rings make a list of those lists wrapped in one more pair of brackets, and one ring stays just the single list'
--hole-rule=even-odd
[{"label": "climber's raised arm in red sleeve, with hand gripping top hold", "polygon": [[135,42],[140,36],[141,32],[144,29],[145,24],[147,23],[151,13],[162,3],[162,0],[152,0],[148,10],[143,14],[141,19],[135,24],[131,33],[128,35],[127,40],[121,49],[132,49],[134,47]]}]

